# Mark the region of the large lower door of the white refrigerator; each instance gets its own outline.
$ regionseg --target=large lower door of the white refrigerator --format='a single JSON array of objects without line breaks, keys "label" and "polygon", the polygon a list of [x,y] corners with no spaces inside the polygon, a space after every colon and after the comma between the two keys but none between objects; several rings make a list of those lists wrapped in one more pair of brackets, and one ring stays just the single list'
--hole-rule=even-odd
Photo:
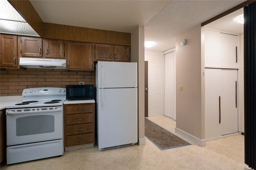
[{"label": "large lower door of the white refrigerator", "polygon": [[137,88],[98,89],[99,150],[137,143]]}]

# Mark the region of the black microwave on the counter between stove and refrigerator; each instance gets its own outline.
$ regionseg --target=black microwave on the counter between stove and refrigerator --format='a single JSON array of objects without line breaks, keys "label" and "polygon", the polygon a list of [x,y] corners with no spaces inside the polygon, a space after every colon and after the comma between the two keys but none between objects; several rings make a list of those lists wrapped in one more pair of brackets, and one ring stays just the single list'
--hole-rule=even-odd
[{"label": "black microwave on the counter between stove and refrigerator", "polygon": [[94,99],[93,85],[67,85],[67,100],[91,100]]}]

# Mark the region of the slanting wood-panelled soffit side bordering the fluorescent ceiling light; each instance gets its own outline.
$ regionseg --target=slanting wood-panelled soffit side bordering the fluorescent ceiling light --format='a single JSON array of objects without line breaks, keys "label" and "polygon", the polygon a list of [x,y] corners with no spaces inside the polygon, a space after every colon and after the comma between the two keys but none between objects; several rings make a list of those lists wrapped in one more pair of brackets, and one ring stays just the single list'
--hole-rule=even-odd
[{"label": "slanting wood-panelled soffit side bordering the fluorescent ceiling light", "polygon": [[13,8],[29,23],[35,32],[44,37],[44,22],[28,0],[8,0]]}]

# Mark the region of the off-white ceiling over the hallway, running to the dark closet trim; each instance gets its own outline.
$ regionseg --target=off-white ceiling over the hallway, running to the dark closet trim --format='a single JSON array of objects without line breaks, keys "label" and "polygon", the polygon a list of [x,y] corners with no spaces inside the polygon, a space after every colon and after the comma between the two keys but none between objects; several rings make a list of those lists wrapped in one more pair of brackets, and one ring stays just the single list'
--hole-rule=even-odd
[{"label": "off-white ceiling over the hallway, running to the dark closet trim", "polygon": [[175,47],[175,36],[244,1],[173,1],[145,26],[145,41],[156,45],[147,50]]}]

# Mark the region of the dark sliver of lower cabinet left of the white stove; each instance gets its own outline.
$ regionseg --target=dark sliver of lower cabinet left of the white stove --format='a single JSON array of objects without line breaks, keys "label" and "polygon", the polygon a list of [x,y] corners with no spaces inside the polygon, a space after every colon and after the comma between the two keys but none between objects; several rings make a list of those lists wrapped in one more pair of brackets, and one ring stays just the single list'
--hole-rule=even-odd
[{"label": "dark sliver of lower cabinet left of the white stove", "polygon": [[0,163],[6,159],[6,115],[0,110]]}]

